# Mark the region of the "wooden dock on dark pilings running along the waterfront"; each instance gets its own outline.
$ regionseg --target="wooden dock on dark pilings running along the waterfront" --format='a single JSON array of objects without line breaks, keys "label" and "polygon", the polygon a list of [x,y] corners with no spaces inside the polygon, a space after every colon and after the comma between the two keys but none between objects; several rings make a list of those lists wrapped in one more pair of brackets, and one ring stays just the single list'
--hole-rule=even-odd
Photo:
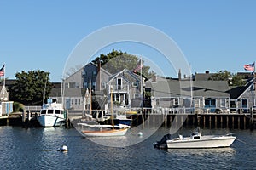
[{"label": "wooden dock on dark pilings running along the waterfront", "polygon": [[[102,116],[103,111],[96,110],[94,115]],[[39,127],[37,116],[38,110],[25,110],[24,112],[11,113],[0,116],[0,126],[22,126],[22,127]],[[147,122],[148,126],[155,126],[161,123],[162,127],[171,127],[172,123],[183,123],[183,127],[202,127],[202,128],[230,128],[230,129],[255,129],[256,114],[253,113],[194,113],[191,111],[172,112],[156,111],[151,108],[137,110],[137,114],[129,116],[132,118],[132,126],[138,126]],[[82,118],[82,111],[67,111],[67,126],[73,127],[74,119]],[[101,121],[101,117],[98,118]]]}]

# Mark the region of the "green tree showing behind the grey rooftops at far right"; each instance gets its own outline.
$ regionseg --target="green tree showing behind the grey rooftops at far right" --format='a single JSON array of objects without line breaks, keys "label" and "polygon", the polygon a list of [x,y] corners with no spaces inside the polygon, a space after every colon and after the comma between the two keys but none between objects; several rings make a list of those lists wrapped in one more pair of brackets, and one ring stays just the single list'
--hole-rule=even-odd
[{"label": "green tree showing behind the grey rooftops at far right", "polygon": [[237,74],[232,74],[230,71],[218,71],[209,77],[213,81],[228,81],[230,86],[243,86],[245,82],[242,77]]}]

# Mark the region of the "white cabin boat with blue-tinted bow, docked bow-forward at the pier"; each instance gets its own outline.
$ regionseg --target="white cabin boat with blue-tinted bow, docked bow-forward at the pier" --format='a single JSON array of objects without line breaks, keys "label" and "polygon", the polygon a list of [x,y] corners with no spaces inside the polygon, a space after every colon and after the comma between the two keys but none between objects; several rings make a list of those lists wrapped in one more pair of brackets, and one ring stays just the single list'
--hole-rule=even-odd
[{"label": "white cabin boat with blue-tinted bow, docked bow-forward at the pier", "polygon": [[62,104],[56,102],[43,105],[38,122],[42,127],[60,127],[66,123],[66,113]]}]

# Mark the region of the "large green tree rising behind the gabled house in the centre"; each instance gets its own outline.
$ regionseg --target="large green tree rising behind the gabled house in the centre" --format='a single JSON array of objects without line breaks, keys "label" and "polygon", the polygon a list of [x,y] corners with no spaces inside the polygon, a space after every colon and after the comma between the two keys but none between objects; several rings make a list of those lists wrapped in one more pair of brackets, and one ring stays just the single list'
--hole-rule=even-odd
[{"label": "large green tree rising behind the gabled house in the centre", "polygon": [[[138,64],[140,64],[140,59],[136,55],[127,54],[126,52],[112,50],[108,54],[101,54],[99,57],[96,57],[92,62],[97,64],[98,61],[101,62],[102,68],[111,74],[115,74],[124,69],[133,71]],[[155,75],[154,71],[150,71],[150,66],[144,65],[143,62],[143,76],[150,78]],[[140,71],[138,71],[140,72]]]}]

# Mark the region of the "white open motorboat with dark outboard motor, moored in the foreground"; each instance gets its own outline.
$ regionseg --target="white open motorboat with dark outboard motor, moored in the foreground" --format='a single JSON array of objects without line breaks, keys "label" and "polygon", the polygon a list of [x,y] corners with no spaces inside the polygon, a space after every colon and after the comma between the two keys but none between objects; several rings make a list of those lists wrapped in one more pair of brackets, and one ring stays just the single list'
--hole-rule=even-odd
[{"label": "white open motorboat with dark outboard motor, moored in the foreground", "polygon": [[201,135],[199,129],[190,135],[190,137],[183,137],[179,135],[178,138],[172,139],[171,134],[166,134],[159,142],[154,144],[157,148],[220,148],[230,147],[235,141],[236,137],[232,135]]}]

